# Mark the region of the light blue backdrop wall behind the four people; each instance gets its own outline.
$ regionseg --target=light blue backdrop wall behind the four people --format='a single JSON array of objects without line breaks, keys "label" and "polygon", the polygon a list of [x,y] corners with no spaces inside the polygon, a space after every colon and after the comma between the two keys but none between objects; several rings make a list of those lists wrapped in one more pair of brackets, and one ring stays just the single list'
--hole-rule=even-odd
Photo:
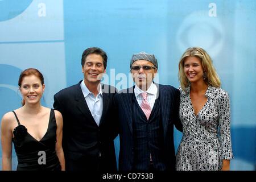
[{"label": "light blue backdrop wall behind the four people", "polygon": [[[118,73],[128,76],[133,53],[146,51],[159,61],[159,82],[177,88],[181,54],[200,46],[212,56],[230,96],[231,169],[254,170],[255,17],[253,0],[0,0],[0,117],[20,106],[18,76],[25,68],[42,71],[42,102],[52,107],[53,94],[82,79],[81,54],[88,47],[108,53],[109,84],[118,84]],[[180,139],[175,131],[176,148]],[[13,158],[15,169],[14,151]]]}]

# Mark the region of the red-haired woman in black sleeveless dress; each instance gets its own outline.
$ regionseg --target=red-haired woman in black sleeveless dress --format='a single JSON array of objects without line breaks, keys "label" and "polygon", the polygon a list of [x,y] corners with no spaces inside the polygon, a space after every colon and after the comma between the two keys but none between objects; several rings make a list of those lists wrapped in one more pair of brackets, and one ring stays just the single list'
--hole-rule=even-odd
[{"label": "red-haired woman in black sleeveless dress", "polygon": [[3,115],[1,122],[2,169],[11,170],[13,142],[17,171],[65,170],[63,119],[59,111],[40,104],[45,88],[42,73],[26,69],[20,74],[18,85],[22,107]]}]

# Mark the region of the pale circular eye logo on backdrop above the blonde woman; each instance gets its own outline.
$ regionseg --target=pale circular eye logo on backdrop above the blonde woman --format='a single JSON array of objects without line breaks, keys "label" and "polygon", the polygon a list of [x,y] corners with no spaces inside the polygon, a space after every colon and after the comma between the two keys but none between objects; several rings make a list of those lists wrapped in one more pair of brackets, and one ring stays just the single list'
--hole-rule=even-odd
[{"label": "pale circular eye logo on backdrop above the blonde woman", "polygon": [[217,55],[224,43],[224,31],[218,16],[208,11],[195,11],[186,16],[177,30],[176,42],[181,52],[189,47],[201,47],[210,55]]}]

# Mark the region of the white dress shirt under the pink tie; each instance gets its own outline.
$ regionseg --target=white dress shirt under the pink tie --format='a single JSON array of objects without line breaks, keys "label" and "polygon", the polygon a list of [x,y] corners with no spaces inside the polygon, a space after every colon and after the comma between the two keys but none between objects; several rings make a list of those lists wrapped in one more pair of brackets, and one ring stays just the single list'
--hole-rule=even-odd
[{"label": "white dress shirt under the pink tie", "polygon": [[[143,97],[141,95],[141,93],[143,92],[144,91],[142,89],[140,89],[137,85],[135,85],[134,94],[139,106],[141,106],[143,101]],[[154,84],[154,82],[152,82],[152,84],[150,85],[150,87],[147,89],[146,92],[147,92],[147,101],[150,104],[150,107],[152,110],[155,104],[156,95],[158,93],[158,87]]]}]

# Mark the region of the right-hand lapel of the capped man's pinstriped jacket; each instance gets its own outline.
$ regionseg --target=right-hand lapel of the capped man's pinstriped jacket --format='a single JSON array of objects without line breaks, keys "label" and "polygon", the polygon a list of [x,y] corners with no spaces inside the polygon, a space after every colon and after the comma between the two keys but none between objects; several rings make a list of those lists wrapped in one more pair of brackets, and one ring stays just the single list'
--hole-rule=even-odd
[{"label": "right-hand lapel of the capped man's pinstriped jacket", "polygon": [[170,94],[162,85],[158,85],[159,98],[160,98],[160,107],[162,113],[162,123],[164,129],[164,137],[167,133],[168,128],[168,119],[170,117]]}]

